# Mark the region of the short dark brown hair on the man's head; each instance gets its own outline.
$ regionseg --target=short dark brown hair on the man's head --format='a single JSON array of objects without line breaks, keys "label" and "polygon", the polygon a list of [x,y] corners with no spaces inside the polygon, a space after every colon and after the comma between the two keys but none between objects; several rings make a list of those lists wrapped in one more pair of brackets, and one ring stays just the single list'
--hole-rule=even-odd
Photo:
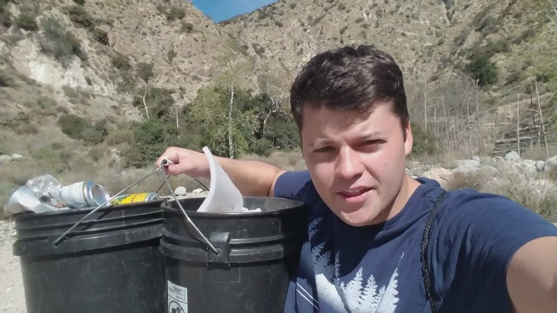
[{"label": "short dark brown hair on the man's head", "polygon": [[378,101],[392,102],[404,128],[409,116],[402,71],[388,53],[368,45],[319,53],[290,89],[290,107],[300,131],[304,106],[367,111]]}]

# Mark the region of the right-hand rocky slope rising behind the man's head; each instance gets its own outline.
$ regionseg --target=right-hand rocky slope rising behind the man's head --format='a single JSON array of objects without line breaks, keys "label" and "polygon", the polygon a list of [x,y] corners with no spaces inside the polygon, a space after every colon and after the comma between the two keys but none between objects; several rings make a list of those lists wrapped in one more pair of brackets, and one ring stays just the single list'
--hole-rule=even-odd
[{"label": "right-hand rocky slope rising behind the man's head", "polygon": [[[482,125],[481,138],[499,138],[516,129],[518,97],[521,128],[540,125],[539,114],[530,110],[538,109],[538,98],[544,123],[555,116],[556,26],[551,22],[555,12],[547,11],[549,4],[536,0],[281,1],[222,25],[229,37],[242,43],[242,52],[261,66],[291,73],[289,79],[325,48],[373,43],[392,53],[402,66],[413,93],[414,119],[422,122],[424,99],[437,98],[427,104],[428,119],[443,116],[440,93],[459,89],[456,96],[462,99],[468,94],[462,85],[472,85],[470,91],[475,93],[473,84],[478,80],[480,121],[471,114],[472,125]],[[457,84],[455,74],[461,76]],[[458,105],[457,99],[445,100],[449,107]]]}]

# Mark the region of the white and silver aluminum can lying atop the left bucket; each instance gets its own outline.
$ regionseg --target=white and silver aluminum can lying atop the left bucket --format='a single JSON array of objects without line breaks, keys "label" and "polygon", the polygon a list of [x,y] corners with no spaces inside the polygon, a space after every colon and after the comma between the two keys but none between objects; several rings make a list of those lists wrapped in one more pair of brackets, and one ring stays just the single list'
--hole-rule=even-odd
[{"label": "white and silver aluminum can lying atop the left bucket", "polygon": [[110,199],[101,185],[90,180],[48,190],[47,193],[51,199],[74,209],[98,207]]}]

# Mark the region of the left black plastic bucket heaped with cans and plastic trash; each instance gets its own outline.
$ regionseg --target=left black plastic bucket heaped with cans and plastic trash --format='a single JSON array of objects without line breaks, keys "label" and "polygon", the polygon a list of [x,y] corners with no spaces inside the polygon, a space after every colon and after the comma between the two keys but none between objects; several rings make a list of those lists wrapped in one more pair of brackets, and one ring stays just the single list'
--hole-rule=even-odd
[{"label": "left black plastic bucket heaped with cans and plastic trash", "polygon": [[27,313],[165,312],[163,199],[15,217]]}]

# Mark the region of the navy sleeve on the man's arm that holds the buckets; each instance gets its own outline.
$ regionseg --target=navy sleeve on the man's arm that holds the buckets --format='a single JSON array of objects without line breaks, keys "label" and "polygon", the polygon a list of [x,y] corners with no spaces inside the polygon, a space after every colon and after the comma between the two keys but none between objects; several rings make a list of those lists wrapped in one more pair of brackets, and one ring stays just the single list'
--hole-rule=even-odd
[{"label": "navy sleeve on the man's arm that holds the buckets", "polygon": [[273,194],[277,198],[286,198],[309,203],[317,194],[307,170],[282,173],[275,182]]}]

